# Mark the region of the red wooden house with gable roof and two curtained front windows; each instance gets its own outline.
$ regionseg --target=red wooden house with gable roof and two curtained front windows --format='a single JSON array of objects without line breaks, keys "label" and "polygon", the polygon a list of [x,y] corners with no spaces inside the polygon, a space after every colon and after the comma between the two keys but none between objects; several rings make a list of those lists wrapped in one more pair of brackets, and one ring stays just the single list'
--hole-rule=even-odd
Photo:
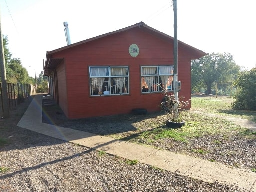
[{"label": "red wooden house with gable roof and two curtained front windows", "polygon": [[[46,54],[50,93],[70,119],[159,110],[173,81],[173,37],[143,22]],[[191,59],[205,52],[178,41],[179,95],[191,99]]]}]

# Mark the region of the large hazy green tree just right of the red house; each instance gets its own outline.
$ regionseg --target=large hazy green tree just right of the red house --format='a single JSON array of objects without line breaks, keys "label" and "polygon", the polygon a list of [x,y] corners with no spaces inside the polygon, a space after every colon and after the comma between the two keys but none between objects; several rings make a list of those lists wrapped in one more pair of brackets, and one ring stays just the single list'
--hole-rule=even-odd
[{"label": "large hazy green tree just right of the red house", "polygon": [[239,71],[240,67],[230,53],[211,53],[192,60],[192,91],[199,92],[205,88],[207,94],[212,94],[212,89],[217,89],[220,83],[227,88],[237,78]]}]

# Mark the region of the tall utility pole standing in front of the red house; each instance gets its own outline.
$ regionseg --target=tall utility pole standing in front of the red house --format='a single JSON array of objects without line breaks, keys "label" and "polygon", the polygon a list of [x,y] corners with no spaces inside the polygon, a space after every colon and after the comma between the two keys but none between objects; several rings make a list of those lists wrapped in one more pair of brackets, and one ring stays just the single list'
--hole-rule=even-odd
[{"label": "tall utility pole standing in front of the red house", "polygon": [[[178,38],[177,38],[177,0],[173,0],[173,12],[174,12],[174,96],[175,100],[178,100],[177,82],[178,82]],[[176,117],[178,116],[178,106],[175,106]]]}]

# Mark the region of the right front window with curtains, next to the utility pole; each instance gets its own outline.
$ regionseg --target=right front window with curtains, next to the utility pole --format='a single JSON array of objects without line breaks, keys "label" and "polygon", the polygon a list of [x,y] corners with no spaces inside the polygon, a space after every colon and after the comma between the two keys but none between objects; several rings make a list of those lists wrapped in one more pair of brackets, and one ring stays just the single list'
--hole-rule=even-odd
[{"label": "right front window with curtains, next to the utility pole", "polygon": [[141,92],[173,90],[173,66],[141,66]]}]

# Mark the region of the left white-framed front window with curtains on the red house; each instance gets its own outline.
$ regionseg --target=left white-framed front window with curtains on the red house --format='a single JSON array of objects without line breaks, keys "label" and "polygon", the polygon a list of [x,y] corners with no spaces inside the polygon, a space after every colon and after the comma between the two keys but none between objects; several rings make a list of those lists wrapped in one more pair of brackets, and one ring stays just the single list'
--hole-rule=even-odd
[{"label": "left white-framed front window with curtains on the red house", "polygon": [[89,67],[90,95],[129,93],[128,67]]}]

